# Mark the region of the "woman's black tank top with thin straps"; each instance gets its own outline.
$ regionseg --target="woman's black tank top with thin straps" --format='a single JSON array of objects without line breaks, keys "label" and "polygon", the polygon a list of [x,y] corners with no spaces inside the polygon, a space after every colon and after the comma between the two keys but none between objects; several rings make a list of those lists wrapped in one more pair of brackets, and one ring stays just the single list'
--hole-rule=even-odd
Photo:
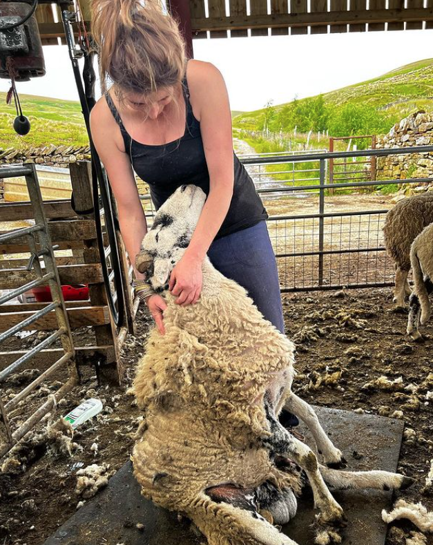
[{"label": "woman's black tank top with thin straps", "polygon": [[[180,140],[167,144],[141,144],[133,140],[124,128],[122,119],[113,100],[107,92],[106,102],[119,125],[134,171],[146,182],[151,190],[155,208],[170,197],[177,187],[194,184],[209,195],[209,171],[204,155],[200,122],[195,119],[189,102],[189,88],[186,76],[182,81],[186,104],[186,126]],[[252,227],[268,218],[253,180],[245,170],[235,152],[233,196],[227,216],[222,222],[216,238],[229,235],[247,227]]]}]

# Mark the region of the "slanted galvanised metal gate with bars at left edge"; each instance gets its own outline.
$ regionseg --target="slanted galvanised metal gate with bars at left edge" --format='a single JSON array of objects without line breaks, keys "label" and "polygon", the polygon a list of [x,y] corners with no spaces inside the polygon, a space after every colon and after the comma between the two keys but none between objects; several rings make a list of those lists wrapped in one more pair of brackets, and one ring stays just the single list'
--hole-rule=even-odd
[{"label": "slanted galvanised metal gate with bars at left edge", "polygon": [[[9,240],[13,240],[15,238],[22,237],[23,235],[28,236],[28,242],[32,256],[30,258],[28,267],[26,268],[28,270],[34,269],[35,274],[39,278],[37,278],[36,280],[32,280],[32,282],[26,283],[26,285],[23,285],[17,289],[13,289],[4,296],[1,296],[0,305],[6,303],[8,300],[11,300],[18,295],[23,294],[25,291],[28,291],[28,289],[31,289],[32,287],[37,287],[42,284],[46,285],[47,283],[50,287],[52,303],[44,307],[44,309],[35,312],[35,314],[32,314],[32,316],[26,318],[26,320],[21,321],[21,323],[10,327],[10,329],[8,329],[6,332],[0,334],[0,343],[1,341],[5,341],[7,338],[10,338],[17,332],[22,331],[24,327],[32,325],[32,323],[35,323],[39,318],[45,316],[52,311],[54,311],[56,314],[57,324],[59,325],[59,327],[54,333],[50,334],[48,338],[39,343],[37,346],[33,347],[32,350],[29,350],[26,354],[21,356],[21,358],[8,365],[6,369],[2,370],[0,372],[0,382],[7,379],[7,377],[12,374],[12,372],[17,370],[21,365],[23,365],[23,363],[29,361],[38,352],[52,345],[52,343],[54,343],[57,338],[60,338],[61,340],[64,354],[53,365],[51,365],[48,370],[39,375],[37,379],[32,381],[28,386],[26,386],[26,388],[21,390],[21,392],[16,394],[10,401],[8,401],[6,405],[1,400],[0,395],[0,419],[1,421],[3,421],[3,425],[6,428],[6,436],[8,438],[8,441],[6,443],[0,445],[0,457],[5,455],[6,452],[8,452],[10,448],[12,448],[15,443],[17,443],[17,441],[19,441],[19,439],[22,439],[22,437],[24,437],[26,433],[28,433],[39,421],[41,421],[41,419],[52,409],[53,405],[57,403],[59,399],[61,399],[78,383],[77,367],[73,363],[73,358],[75,356],[73,339],[70,332],[68,315],[66,313],[63,294],[61,292],[59,274],[57,272],[57,267],[55,264],[55,257],[53,254],[50,235],[48,233],[48,224],[46,222],[46,217],[42,204],[41,191],[37,182],[35,165],[29,164],[28,166],[12,166],[0,169],[1,178],[12,178],[17,176],[24,176],[26,178],[27,189],[30,195],[30,202],[32,202],[36,225],[23,229],[16,229],[15,231],[11,231],[10,233],[3,234],[2,236],[0,236],[0,244]],[[35,233],[37,233],[38,235],[38,243],[40,246],[39,251],[37,250]],[[39,263],[39,258],[41,256],[44,256],[44,263],[47,274],[43,274],[41,271],[41,266]],[[66,383],[64,383],[64,385],[62,385],[61,388],[59,388],[59,390],[55,392],[55,394],[50,396],[50,398],[43,405],[41,405],[39,409],[37,409],[32,415],[30,415],[30,417],[23,424],[21,424],[21,426],[19,426],[19,428],[17,428],[15,432],[12,432],[10,428],[10,422],[8,420],[8,412],[10,412],[12,408],[16,407],[18,403],[25,399],[26,396],[28,396],[28,394],[32,392],[32,390],[35,390],[35,388],[37,388],[37,386],[42,381],[48,378],[48,376],[50,376],[56,370],[59,370],[59,368],[61,368],[61,366],[65,363],[68,364],[69,374],[69,378]]]}]

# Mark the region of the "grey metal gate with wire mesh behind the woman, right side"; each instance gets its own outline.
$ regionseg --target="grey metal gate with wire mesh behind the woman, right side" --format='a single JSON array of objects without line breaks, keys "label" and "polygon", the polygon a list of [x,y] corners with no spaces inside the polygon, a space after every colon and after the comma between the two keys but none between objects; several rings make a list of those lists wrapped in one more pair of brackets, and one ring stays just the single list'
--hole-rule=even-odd
[{"label": "grey metal gate with wire mesh behind the woman, right side", "polygon": [[[348,160],[349,157],[378,157],[410,153],[432,153],[433,146],[414,146],[399,149],[370,149],[338,153],[311,153],[310,155],[279,155],[274,157],[244,158],[242,163],[267,165],[275,163],[320,162],[319,183],[258,189],[265,206],[275,207],[276,198],[281,206],[271,214],[268,229],[276,252],[281,291],[310,291],[315,289],[340,289],[343,287],[381,287],[394,283],[394,264],[387,258],[383,246],[382,227],[388,208],[347,209],[328,211],[332,193],[340,191],[365,191],[386,187],[389,184],[420,184],[433,178],[383,180],[367,182],[327,183],[329,161]],[[333,191],[331,191],[333,190]],[[269,197],[271,199],[269,199]],[[298,197],[298,198],[296,198]],[[311,213],[281,213],[300,203],[311,203]],[[349,195],[353,208],[359,194]]]}]

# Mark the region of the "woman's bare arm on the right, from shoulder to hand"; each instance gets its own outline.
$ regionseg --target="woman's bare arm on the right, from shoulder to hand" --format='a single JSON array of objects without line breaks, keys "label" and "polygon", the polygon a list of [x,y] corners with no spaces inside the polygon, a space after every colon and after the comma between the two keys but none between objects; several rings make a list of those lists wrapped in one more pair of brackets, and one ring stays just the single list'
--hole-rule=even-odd
[{"label": "woman's bare arm on the right, from shoulder to hand", "polygon": [[200,120],[209,170],[209,195],[182,260],[170,278],[176,303],[195,303],[202,289],[202,261],[229,211],[234,167],[229,96],[220,71],[212,64],[189,61],[189,90]]}]

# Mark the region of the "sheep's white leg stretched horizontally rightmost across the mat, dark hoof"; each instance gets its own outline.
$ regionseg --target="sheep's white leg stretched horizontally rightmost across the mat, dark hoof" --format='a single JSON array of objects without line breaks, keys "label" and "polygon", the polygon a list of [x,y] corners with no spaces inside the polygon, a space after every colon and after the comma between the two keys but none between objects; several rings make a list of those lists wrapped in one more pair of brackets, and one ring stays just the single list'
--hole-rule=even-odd
[{"label": "sheep's white leg stretched horizontally rightmost across the mat, dark hoof", "polygon": [[414,479],[388,471],[337,471],[319,466],[323,479],[332,488],[347,490],[375,488],[376,490],[405,490]]}]

